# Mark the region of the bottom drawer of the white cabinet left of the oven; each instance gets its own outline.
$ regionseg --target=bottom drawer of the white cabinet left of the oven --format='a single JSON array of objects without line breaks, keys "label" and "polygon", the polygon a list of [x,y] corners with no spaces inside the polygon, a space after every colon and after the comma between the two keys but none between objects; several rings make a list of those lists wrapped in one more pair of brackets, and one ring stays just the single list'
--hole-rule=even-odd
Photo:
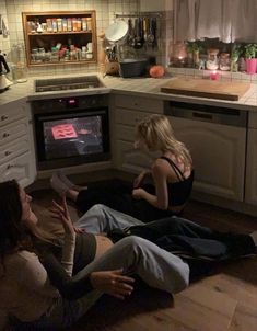
[{"label": "bottom drawer of the white cabinet left of the oven", "polygon": [[15,179],[22,186],[26,186],[31,183],[32,169],[32,155],[30,152],[24,153],[0,166],[0,179],[1,181],[9,181]]}]

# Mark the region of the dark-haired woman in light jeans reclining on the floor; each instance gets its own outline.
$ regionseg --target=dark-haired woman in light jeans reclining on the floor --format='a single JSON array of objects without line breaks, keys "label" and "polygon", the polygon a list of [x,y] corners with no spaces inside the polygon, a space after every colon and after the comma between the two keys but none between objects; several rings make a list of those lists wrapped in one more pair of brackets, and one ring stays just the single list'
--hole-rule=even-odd
[{"label": "dark-haired woman in light jeans reclining on the floor", "polygon": [[170,294],[188,286],[187,263],[149,240],[75,233],[65,198],[52,210],[63,239],[44,231],[31,199],[15,180],[0,183],[0,330],[70,327],[103,293],[129,296],[131,275]]}]

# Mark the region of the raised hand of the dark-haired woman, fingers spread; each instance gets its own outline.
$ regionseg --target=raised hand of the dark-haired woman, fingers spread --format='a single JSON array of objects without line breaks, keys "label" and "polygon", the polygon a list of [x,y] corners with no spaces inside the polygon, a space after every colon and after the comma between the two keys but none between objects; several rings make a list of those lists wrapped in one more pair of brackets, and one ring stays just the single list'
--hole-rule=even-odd
[{"label": "raised hand of the dark-haired woman, fingers spread", "polygon": [[57,218],[61,221],[66,233],[74,235],[75,230],[67,207],[66,196],[62,196],[61,204],[52,201],[52,207],[50,208],[50,212],[52,218]]}]

